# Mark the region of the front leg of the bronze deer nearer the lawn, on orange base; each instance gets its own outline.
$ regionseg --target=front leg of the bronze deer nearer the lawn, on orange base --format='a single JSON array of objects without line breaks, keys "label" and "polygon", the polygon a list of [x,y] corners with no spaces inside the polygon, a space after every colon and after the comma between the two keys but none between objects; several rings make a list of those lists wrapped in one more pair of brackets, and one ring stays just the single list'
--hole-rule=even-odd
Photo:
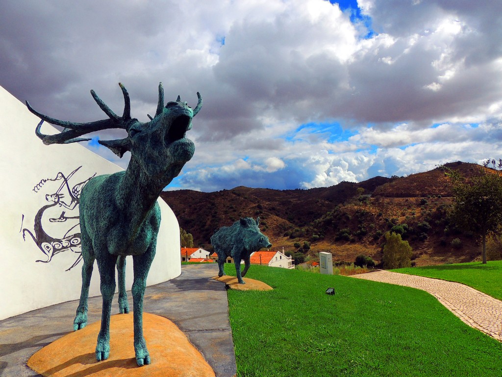
[{"label": "front leg of the bronze deer nearer the lawn, on orange base", "polygon": [[155,246],[157,235],[143,255],[134,255],[134,282],[133,282],[133,302],[134,302],[134,350],[136,362],[139,366],[150,364],[150,354],[147,343],[143,337],[143,297],[147,286],[147,275],[155,256]]}]

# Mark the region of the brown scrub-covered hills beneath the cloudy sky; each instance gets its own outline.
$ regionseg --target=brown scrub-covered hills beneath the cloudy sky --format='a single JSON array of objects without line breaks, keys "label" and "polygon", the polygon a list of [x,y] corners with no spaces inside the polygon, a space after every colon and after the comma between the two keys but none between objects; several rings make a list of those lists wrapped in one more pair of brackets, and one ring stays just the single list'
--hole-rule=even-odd
[{"label": "brown scrub-covered hills beneath the cloudy sky", "polygon": [[[467,178],[495,171],[460,161],[446,166]],[[194,244],[206,249],[211,249],[209,238],[221,226],[240,217],[260,216],[262,231],[273,248],[284,247],[298,260],[316,257],[319,251],[333,253],[339,262],[351,262],[361,253],[381,260],[383,235],[402,225],[403,238],[410,242],[417,265],[469,262],[480,253],[472,234],[450,224],[451,196],[451,182],[443,168],[309,190],[238,186],[214,193],[180,190],[161,194],[180,226],[192,233]],[[460,245],[452,245],[455,238]]]}]

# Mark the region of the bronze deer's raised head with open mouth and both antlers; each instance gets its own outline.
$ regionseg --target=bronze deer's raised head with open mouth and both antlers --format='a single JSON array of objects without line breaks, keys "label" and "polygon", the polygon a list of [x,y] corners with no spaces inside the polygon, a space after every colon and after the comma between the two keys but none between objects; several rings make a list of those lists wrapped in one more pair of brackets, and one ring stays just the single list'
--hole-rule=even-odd
[{"label": "bronze deer's raised head with open mouth and both antlers", "polygon": [[[89,123],[73,123],[50,118],[34,110],[28,101],[28,109],[42,121],[38,124],[35,133],[44,144],[67,144],[91,139],[80,136],[94,131],[111,128],[126,130],[128,136],[117,140],[98,140],[99,144],[109,148],[117,156],[122,157],[130,151],[131,163],[140,167],[140,173],[145,173],[152,178],[162,180],[169,171],[179,170],[189,161],[195,151],[193,142],[185,138],[185,134],[192,128],[192,118],[202,108],[202,97],[197,92],[198,104],[195,109],[182,102],[178,96],[175,102],[168,102],[164,106],[164,88],[159,83],[159,102],[155,117],[148,116],[150,122],[142,123],[136,118],[131,118],[131,100],[127,89],[121,84],[124,97],[124,110],[121,117],[117,116],[110,108],[91,90],[92,98],[108,116],[109,119]],[[64,127],[61,133],[56,135],[44,135],[40,129],[43,122]],[[174,169],[174,170],[173,170]],[[172,177],[171,177],[172,179]],[[166,183],[167,184],[167,183]]]}]

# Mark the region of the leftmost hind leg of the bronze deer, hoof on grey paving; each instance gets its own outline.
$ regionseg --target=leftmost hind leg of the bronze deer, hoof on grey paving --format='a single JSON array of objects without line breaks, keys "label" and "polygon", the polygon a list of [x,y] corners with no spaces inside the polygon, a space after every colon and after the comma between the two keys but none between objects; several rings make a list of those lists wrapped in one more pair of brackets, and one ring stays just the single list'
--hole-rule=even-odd
[{"label": "leftmost hind leg of the bronze deer, hoof on grey paving", "polygon": [[83,329],[87,325],[87,298],[89,297],[89,285],[95,259],[92,242],[84,226],[81,227],[81,245],[82,253],[80,255],[84,261],[82,265],[82,289],[80,291],[77,314],[73,320],[73,331]]}]

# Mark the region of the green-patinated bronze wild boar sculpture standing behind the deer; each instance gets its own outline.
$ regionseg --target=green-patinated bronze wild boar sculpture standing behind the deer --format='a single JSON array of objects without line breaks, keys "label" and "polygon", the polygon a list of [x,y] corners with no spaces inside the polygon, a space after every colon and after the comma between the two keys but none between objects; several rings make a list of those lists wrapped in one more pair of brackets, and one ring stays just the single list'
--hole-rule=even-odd
[{"label": "green-patinated bronze wild boar sculpture standing behind the deer", "polygon": [[[211,236],[211,245],[218,255],[218,276],[223,276],[223,264],[227,257],[231,256],[235,263],[237,280],[239,284],[245,284],[242,277],[249,269],[249,258],[252,253],[264,247],[271,247],[269,238],[264,235],[258,225],[260,218],[256,221],[246,217],[236,221],[229,227],[221,227]],[[240,272],[240,261],[244,260],[244,270]]]}]

